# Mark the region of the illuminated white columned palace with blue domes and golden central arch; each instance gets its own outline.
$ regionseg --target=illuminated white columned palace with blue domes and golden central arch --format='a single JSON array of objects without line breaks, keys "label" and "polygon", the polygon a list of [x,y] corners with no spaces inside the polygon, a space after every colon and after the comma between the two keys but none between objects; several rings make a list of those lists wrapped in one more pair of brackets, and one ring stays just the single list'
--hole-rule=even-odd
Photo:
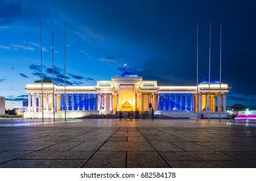
[{"label": "illuminated white columned palace with blue domes and golden central arch", "polygon": [[[209,85],[209,80],[206,78],[198,85],[199,98],[197,98],[196,85],[158,86],[157,81],[145,81],[143,77],[131,74],[130,70],[112,77],[110,81],[97,81],[96,86],[65,88],[45,78],[43,95],[41,88],[41,80],[27,84],[25,87],[29,96],[24,118],[41,118],[42,109],[45,118],[52,118],[53,112],[56,118],[64,118],[65,95],[66,114],[69,118],[80,118],[90,114],[115,114],[117,111],[145,112],[149,111],[149,104],[152,105],[155,114],[174,118],[195,117],[197,107],[201,117],[208,112],[208,109],[211,118],[219,115],[218,110],[222,117],[226,117],[226,94],[230,89],[227,84],[220,84],[219,81],[210,81]],[[219,96],[220,91],[221,96]],[[41,106],[41,96],[43,96],[43,106]]]}]

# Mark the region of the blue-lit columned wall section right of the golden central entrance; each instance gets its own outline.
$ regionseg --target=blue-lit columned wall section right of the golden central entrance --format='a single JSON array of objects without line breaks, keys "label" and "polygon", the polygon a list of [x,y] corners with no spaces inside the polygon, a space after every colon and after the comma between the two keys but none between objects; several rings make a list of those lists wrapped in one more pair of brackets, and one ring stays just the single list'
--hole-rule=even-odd
[{"label": "blue-lit columned wall section right of the golden central entrance", "polygon": [[192,94],[159,94],[160,111],[194,111]]}]

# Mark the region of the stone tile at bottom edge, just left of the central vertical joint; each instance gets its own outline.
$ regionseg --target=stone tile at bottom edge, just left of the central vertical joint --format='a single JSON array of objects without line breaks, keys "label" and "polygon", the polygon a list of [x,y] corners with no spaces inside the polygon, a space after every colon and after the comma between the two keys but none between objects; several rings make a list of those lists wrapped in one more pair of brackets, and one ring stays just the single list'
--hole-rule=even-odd
[{"label": "stone tile at bottom edge, just left of the central vertical joint", "polygon": [[84,168],[124,168],[126,151],[97,151]]}]

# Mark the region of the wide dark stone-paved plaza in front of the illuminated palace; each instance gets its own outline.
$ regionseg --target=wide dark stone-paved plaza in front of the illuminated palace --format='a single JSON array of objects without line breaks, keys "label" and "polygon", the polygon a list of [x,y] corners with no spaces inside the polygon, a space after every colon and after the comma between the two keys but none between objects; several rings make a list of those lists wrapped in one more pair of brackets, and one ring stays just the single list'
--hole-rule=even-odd
[{"label": "wide dark stone-paved plaza in front of the illuminated palace", "polygon": [[0,167],[256,167],[255,120],[0,120]]}]

